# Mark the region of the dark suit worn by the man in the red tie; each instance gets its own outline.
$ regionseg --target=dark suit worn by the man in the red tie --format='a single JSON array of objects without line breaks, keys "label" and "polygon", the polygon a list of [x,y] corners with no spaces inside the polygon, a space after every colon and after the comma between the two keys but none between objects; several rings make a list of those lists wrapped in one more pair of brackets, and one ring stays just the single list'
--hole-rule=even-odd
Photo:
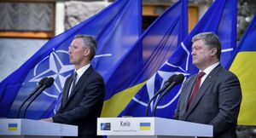
[{"label": "dark suit worn by the man in the red tie", "polygon": [[241,86],[236,75],[220,65],[215,67],[187,108],[195,78],[196,75],[183,83],[174,118],[211,124],[215,138],[236,138],[236,123],[241,104]]}]

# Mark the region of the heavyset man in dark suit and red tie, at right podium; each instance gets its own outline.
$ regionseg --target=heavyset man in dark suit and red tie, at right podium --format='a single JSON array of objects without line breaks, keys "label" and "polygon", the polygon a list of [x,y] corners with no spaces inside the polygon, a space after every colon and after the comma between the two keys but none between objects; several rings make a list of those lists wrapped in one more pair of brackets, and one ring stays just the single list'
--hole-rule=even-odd
[{"label": "heavyset man in dark suit and red tie, at right podium", "polygon": [[236,138],[241,105],[239,80],[219,64],[221,45],[217,35],[203,32],[192,42],[193,64],[200,72],[183,83],[174,118],[211,124],[215,138]]}]

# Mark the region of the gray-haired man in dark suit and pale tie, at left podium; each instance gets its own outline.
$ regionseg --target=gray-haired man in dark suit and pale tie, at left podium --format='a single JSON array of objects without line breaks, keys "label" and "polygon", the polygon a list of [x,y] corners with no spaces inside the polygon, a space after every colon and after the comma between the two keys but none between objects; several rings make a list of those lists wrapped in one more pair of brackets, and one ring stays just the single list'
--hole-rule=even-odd
[{"label": "gray-haired man in dark suit and pale tie, at left podium", "polygon": [[96,40],[77,35],[69,46],[70,62],[75,72],[64,84],[61,107],[44,121],[79,126],[79,138],[96,138],[96,119],[102,112],[105,84],[102,76],[90,65],[96,55]]}]

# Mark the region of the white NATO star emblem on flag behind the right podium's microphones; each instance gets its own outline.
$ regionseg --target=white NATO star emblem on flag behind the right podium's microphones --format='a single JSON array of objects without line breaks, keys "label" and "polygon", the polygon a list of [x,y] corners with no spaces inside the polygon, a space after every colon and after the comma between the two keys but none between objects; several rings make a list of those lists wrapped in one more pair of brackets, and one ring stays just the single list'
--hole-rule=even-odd
[{"label": "white NATO star emblem on flag behind the right podium's microphones", "polygon": [[[153,98],[154,94],[157,92],[156,90],[162,88],[165,82],[174,74],[183,74],[184,76],[189,76],[189,57],[191,56],[189,53],[189,49],[185,47],[183,43],[181,43],[183,51],[185,51],[186,59],[183,66],[176,65],[172,63],[172,59],[166,60],[166,62],[160,67],[160,69],[154,73],[154,75],[148,79],[147,83],[140,89],[140,93],[147,93],[148,96],[136,95],[132,98],[133,101],[136,101],[138,104],[147,107],[148,101]],[[186,78],[184,79],[184,81]],[[183,82],[184,82],[183,81]],[[160,105],[157,106],[157,109],[164,109],[168,106],[171,106],[175,101],[177,101],[178,95],[180,94],[180,90],[177,93],[168,93],[165,96],[166,101],[162,101]],[[142,94],[143,95],[143,94]],[[157,101],[159,97],[157,97],[154,101]],[[155,106],[155,102],[150,105],[150,110],[153,112],[153,108]]]}]

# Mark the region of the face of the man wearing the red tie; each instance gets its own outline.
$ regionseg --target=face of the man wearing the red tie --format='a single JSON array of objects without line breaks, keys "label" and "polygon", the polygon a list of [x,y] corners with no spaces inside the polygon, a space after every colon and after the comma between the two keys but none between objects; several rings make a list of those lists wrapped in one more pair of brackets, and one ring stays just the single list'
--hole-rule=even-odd
[{"label": "face of the man wearing the red tie", "polygon": [[212,58],[212,49],[209,49],[203,40],[197,40],[192,45],[193,64],[198,68],[206,68]]}]

